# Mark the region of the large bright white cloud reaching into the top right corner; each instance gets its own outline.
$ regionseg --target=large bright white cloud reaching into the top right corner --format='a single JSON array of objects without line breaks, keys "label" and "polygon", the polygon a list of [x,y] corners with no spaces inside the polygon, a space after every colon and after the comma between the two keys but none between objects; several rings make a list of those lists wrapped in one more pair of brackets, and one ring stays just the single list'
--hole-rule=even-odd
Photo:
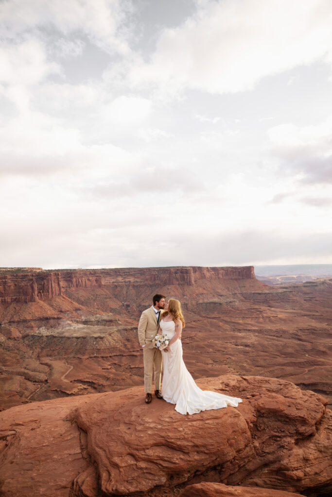
[{"label": "large bright white cloud reaching into the top right corner", "polygon": [[332,63],[332,10],[325,0],[204,2],[182,26],[164,29],[133,83],[211,93],[252,89],[262,78],[317,60]]}]

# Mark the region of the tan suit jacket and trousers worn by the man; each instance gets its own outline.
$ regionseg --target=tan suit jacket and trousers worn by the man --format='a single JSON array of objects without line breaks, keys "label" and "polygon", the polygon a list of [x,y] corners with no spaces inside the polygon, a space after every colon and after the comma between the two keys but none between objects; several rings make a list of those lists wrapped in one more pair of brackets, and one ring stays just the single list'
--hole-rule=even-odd
[{"label": "tan suit jacket and trousers worn by the man", "polygon": [[[161,320],[161,313],[160,318]],[[142,312],[138,323],[138,340],[143,348],[144,361],[144,389],[146,394],[151,393],[152,388],[152,370],[154,366],[154,389],[160,390],[162,356],[160,350],[154,348],[152,338],[157,334],[158,324],[156,313],[153,306]]]}]

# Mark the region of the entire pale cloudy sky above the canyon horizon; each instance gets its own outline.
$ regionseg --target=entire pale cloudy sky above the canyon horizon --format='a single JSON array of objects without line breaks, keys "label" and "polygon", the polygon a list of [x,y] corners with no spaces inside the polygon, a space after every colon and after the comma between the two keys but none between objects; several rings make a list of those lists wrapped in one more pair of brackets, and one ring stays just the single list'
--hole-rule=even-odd
[{"label": "entire pale cloudy sky above the canyon horizon", "polygon": [[0,266],[332,263],[330,0],[0,0]]}]

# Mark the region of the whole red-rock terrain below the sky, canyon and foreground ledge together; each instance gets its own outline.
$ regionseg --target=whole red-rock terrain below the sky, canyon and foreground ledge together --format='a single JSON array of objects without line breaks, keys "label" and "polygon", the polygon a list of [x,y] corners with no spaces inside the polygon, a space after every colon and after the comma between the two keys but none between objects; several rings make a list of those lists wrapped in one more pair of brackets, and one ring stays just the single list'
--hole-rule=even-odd
[{"label": "whole red-rock terrain below the sky, canyon and foreground ledge together", "polygon": [[[238,408],[144,404],[137,323],[154,293],[182,303],[199,386],[241,397]],[[331,278],[0,270],[0,494],[330,496],[331,324]]]}]

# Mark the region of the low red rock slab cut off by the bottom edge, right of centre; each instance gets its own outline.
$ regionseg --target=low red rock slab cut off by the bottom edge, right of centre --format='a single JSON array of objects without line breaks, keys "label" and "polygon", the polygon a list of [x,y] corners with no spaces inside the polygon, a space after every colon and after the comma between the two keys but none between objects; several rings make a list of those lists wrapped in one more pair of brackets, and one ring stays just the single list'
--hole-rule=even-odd
[{"label": "low red rock slab cut off by the bottom edge, right of centre", "polygon": [[222,483],[203,482],[186,487],[181,497],[299,497],[300,495],[302,496],[302,494],[293,494],[282,490],[231,487]]}]

